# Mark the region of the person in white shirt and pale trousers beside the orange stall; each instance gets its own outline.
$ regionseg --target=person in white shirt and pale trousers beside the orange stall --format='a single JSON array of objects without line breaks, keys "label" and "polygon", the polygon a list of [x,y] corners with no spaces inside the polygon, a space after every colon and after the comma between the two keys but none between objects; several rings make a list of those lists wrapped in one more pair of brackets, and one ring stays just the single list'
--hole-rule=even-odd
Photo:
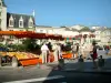
[{"label": "person in white shirt and pale trousers beside the orange stall", "polygon": [[41,46],[41,52],[42,52],[42,63],[47,63],[47,55],[48,55],[49,49],[46,45],[46,43]]}]

